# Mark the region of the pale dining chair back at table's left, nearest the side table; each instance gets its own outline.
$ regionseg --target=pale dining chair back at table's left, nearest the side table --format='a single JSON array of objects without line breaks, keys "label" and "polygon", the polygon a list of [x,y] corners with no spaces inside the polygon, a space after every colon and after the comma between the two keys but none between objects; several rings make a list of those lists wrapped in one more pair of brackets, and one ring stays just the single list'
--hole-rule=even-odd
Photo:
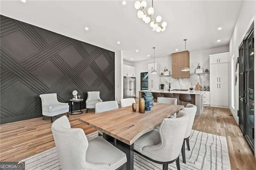
[{"label": "pale dining chair back at table's left, nearest the side table", "polygon": [[104,101],[95,104],[95,113],[102,113],[106,111],[112,111],[118,109],[117,101]]}]

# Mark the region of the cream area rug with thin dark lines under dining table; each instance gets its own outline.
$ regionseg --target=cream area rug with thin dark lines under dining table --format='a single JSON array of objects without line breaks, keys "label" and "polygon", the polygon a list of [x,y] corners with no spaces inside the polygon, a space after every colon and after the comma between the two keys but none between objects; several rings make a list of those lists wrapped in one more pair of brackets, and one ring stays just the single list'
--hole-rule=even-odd
[{"label": "cream area rug with thin dark lines under dining table", "polygon": [[[98,136],[98,132],[86,135],[88,140]],[[230,160],[226,138],[214,134],[191,131],[190,151],[186,149],[186,164],[182,162],[180,153],[180,168],[185,170],[230,170]],[[26,158],[26,170],[60,170],[60,162],[56,148],[51,148],[40,154]],[[162,170],[162,165],[156,164],[134,153],[135,170]],[[170,170],[176,170],[176,164],[169,164]]]}]

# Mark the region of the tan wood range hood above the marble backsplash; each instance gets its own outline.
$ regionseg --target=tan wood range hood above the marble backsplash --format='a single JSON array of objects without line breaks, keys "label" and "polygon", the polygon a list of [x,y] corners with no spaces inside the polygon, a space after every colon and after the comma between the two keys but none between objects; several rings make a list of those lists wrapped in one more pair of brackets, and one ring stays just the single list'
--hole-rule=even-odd
[{"label": "tan wood range hood above the marble backsplash", "polygon": [[[186,53],[186,59],[185,59]],[[190,68],[189,51],[172,53],[172,78],[189,78],[190,71],[181,71],[183,67]]]}]

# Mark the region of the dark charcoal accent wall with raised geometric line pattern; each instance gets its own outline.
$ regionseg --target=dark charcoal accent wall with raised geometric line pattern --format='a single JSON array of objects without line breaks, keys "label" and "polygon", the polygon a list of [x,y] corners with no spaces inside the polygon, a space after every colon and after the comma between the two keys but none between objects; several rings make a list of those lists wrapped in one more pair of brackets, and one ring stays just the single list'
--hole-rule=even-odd
[{"label": "dark charcoal accent wall with raised geometric line pattern", "polygon": [[[114,52],[0,15],[0,123],[42,116],[40,94],[114,100]],[[74,105],[73,109],[80,109]]]}]

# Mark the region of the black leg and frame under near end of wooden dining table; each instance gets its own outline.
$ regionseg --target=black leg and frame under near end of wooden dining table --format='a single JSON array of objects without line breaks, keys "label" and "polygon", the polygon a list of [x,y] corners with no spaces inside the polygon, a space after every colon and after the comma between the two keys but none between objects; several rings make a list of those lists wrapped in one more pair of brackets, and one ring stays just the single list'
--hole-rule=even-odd
[{"label": "black leg and frame under near end of wooden dining table", "polygon": [[[105,138],[106,140],[108,140],[108,134],[103,133],[103,138]],[[110,136],[112,137],[112,136]],[[110,142],[113,142],[113,140],[111,140]],[[127,157],[127,162],[126,162],[126,170],[133,170],[133,156],[134,156],[134,151],[133,151],[133,144],[132,145],[128,145],[118,139],[116,139],[116,148],[122,150]]]}]

